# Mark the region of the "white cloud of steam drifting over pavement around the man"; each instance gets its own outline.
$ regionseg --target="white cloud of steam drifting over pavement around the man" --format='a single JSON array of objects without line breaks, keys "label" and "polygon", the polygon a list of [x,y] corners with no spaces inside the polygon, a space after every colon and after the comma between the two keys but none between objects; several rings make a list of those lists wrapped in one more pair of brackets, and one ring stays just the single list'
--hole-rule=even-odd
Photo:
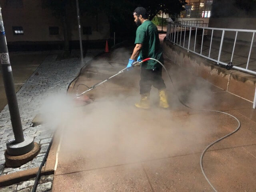
[{"label": "white cloud of steam drifting over pavement around the man", "polygon": [[[90,87],[115,74],[126,67],[126,54],[130,53],[120,49],[108,59],[95,60],[76,84],[84,82]],[[174,64],[167,68],[177,90],[163,72],[170,104],[167,110],[158,107],[158,90],[153,87],[151,109],[134,106],[140,100],[139,67],[88,92],[94,99],[90,104],[76,105],[76,86],[72,94],[48,98],[41,110],[42,117],[46,127],[59,130],[60,135],[56,136],[62,137],[60,156],[65,157],[65,162],[72,163],[74,169],[83,164],[86,170],[201,151],[207,136],[213,133],[205,127],[218,126],[218,122],[182,106],[177,94],[186,104],[204,107],[212,100],[211,85]],[[79,86],[79,93],[84,90],[86,87]]]}]

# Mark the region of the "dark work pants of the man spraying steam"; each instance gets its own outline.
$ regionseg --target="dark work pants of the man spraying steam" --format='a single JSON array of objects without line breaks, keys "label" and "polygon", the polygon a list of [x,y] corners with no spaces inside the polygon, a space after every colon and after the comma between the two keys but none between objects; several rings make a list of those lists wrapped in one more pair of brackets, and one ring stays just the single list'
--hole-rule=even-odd
[{"label": "dark work pants of the man spraying steam", "polygon": [[154,86],[158,90],[166,88],[162,78],[162,67],[156,68],[155,70],[141,68],[140,94],[149,93],[151,86]]}]

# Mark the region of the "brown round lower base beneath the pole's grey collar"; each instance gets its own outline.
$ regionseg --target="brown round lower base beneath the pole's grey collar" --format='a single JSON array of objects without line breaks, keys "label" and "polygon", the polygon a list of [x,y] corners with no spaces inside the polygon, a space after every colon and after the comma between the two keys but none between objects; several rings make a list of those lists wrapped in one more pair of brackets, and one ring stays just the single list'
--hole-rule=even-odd
[{"label": "brown round lower base beneath the pole's grey collar", "polygon": [[34,157],[36,157],[38,155],[40,151],[40,145],[36,142],[34,142],[34,148],[24,154],[24,155],[20,155],[20,156],[11,156],[7,153],[7,151],[5,151],[4,153],[4,157],[5,157],[5,166],[6,167],[20,167],[24,164],[26,164],[27,162],[31,161]]}]

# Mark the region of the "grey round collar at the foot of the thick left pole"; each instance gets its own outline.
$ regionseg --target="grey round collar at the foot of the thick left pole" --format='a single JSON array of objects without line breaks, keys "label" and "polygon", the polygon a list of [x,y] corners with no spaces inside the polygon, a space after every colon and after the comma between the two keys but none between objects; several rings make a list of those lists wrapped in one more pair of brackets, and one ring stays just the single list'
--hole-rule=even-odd
[{"label": "grey round collar at the foot of the thick left pole", "polygon": [[15,140],[8,140],[6,143],[7,153],[11,156],[24,155],[34,148],[34,138],[24,136],[24,141],[16,143]]}]

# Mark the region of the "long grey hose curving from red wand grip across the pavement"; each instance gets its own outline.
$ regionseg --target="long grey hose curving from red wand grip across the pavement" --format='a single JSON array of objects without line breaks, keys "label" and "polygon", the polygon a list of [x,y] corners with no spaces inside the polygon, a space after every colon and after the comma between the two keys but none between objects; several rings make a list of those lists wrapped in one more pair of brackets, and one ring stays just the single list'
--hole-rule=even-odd
[{"label": "long grey hose curving from red wand grip across the pavement", "polygon": [[[142,60],[142,62],[145,62],[145,61],[147,61],[147,60],[154,60],[154,61],[157,61],[157,62],[164,68],[164,70],[166,71],[166,73],[168,74],[168,76],[169,76],[169,78],[170,78],[170,81],[172,82],[172,78],[171,78],[169,72],[167,71],[167,69],[165,68],[165,66],[164,66],[160,61],[158,61],[158,60],[156,60],[156,59],[154,59],[154,58],[146,58],[146,59]],[[181,103],[182,105],[184,105],[185,107],[187,107],[187,108],[195,109],[195,108],[192,108],[192,107],[190,107],[190,106],[184,104],[184,103],[182,102],[182,100],[180,99],[180,97],[179,97],[179,95],[178,95],[178,92],[177,92],[177,90],[176,90],[176,88],[175,88],[173,82],[172,82],[172,86],[173,86],[173,88],[174,88],[174,92],[175,92],[176,96],[178,97],[178,100],[180,101],[180,103]],[[236,118],[235,116],[233,116],[233,115],[231,115],[231,114],[229,114],[229,113],[226,113],[226,112],[222,112],[222,111],[218,111],[218,110],[206,110],[206,109],[195,109],[195,110],[222,113],[222,114],[225,114],[225,115],[228,115],[228,116],[234,118],[234,119],[238,122],[238,126],[237,126],[236,130],[230,132],[229,134],[227,134],[227,135],[223,136],[222,138],[219,138],[219,139],[217,139],[216,141],[214,141],[214,142],[212,142],[211,144],[209,144],[209,145],[204,149],[204,151],[202,152],[201,157],[200,157],[200,167],[201,167],[202,174],[204,175],[204,178],[205,178],[206,181],[209,183],[209,185],[212,187],[212,189],[214,190],[214,192],[217,192],[217,190],[214,188],[214,186],[212,185],[212,183],[210,182],[210,180],[208,179],[208,177],[206,176],[206,174],[205,174],[205,172],[204,172],[204,167],[203,167],[203,158],[204,158],[204,154],[206,153],[206,151],[207,151],[211,146],[213,146],[214,144],[220,142],[220,141],[223,140],[224,138],[227,138],[228,136],[230,136],[230,135],[234,134],[235,132],[237,132],[237,131],[240,129],[241,123],[240,123],[240,121],[238,120],[238,118]]]}]

